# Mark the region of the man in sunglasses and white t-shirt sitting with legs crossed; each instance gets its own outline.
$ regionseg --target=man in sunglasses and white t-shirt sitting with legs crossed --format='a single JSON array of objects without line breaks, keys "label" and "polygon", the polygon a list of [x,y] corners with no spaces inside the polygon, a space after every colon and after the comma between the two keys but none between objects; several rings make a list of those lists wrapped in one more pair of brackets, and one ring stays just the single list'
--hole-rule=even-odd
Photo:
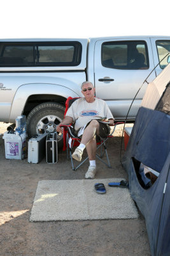
[{"label": "man in sunglasses and white t-shirt sitting with legs crossed", "polygon": [[[95,88],[92,83],[85,81],[81,85],[81,93],[84,97],[71,104],[60,125],[74,123],[75,133],[81,138],[81,142],[72,157],[76,161],[81,161],[83,150],[86,148],[90,166],[85,174],[85,179],[94,179],[96,174],[96,134],[101,138],[106,138],[110,133],[109,125],[98,122],[97,119],[104,118],[110,125],[113,125],[114,118],[106,102],[94,96]],[[57,126],[57,132],[63,132],[60,125]]]}]

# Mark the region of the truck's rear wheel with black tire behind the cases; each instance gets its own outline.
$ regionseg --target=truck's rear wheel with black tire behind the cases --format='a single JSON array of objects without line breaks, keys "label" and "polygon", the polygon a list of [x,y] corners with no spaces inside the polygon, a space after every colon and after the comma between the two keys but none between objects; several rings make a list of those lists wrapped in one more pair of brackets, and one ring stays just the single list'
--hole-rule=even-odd
[{"label": "truck's rear wheel with black tire behind the cases", "polygon": [[[64,106],[55,102],[39,104],[31,110],[27,116],[27,136],[31,138],[35,134],[56,131],[56,126],[64,118]],[[57,134],[58,147],[63,145],[63,135]]]}]

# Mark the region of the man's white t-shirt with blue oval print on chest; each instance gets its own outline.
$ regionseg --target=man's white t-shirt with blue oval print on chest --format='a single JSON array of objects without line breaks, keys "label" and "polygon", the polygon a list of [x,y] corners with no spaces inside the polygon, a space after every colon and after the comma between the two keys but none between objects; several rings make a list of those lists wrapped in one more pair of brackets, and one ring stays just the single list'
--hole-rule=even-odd
[{"label": "man's white t-shirt with blue oval print on chest", "polygon": [[66,116],[73,118],[75,131],[89,123],[92,119],[113,118],[106,102],[97,98],[92,103],[88,103],[85,98],[75,100],[67,110]]}]

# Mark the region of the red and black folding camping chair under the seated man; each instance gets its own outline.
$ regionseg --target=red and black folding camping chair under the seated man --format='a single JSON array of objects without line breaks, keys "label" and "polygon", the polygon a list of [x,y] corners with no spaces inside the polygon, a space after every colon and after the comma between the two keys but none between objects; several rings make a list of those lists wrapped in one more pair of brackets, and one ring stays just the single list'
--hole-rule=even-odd
[{"label": "red and black folding camping chair under the seated man", "polygon": [[[74,100],[77,100],[79,98],[72,98],[69,97],[66,100],[66,110],[64,113],[64,116],[66,115],[67,109],[71,106],[71,104],[74,102]],[[106,147],[106,141],[108,141],[109,138],[113,138],[113,132],[115,132],[115,128],[118,124],[124,124],[124,122],[118,122],[114,125],[113,131],[111,132],[110,135],[107,136],[107,138],[103,139],[103,138],[99,138],[99,141],[97,141],[97,152],[99,152],[100,149],[100,154],[98,154],[96,152],[96,156],[97,158],[104,164],[106,164],[106,166],[108,166],[108,168],[111,168],[111,164],[110,164],[110,159],[108,157],[108,152],[107,152],[107,147]],[[64,128],[64,133],[63,133],[63,140],[64,140],[64,147],[63,150],[67,150],[67,159],[71,159],[71,165],[72,165],[72,170],[76,171],[81,164],[85,163],[85,161],[88,159],[88,156],[83,159],[77,166],[75,166],[74,161],[73,161],[73,147],[77,147],[80,144],[81,139],[78,138],[75,134],[74,134],[74,126],[73,124],[69,124],[69,125],[61,125],[61,127]],[[99,136],[97,136],[98,138]],[[106,154],[106,161],[103,160],[103,156],[104,154]]]}]

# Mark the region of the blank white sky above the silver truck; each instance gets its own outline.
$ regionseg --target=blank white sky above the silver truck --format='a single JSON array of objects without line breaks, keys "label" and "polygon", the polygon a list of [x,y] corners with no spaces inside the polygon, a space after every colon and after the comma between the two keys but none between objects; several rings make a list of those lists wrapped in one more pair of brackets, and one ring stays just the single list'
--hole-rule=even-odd
[{"label": "blank white sky above the silver truck", "polygon": [[170,36],[169,7],[169,0],[0,0],[0,38]]}]

